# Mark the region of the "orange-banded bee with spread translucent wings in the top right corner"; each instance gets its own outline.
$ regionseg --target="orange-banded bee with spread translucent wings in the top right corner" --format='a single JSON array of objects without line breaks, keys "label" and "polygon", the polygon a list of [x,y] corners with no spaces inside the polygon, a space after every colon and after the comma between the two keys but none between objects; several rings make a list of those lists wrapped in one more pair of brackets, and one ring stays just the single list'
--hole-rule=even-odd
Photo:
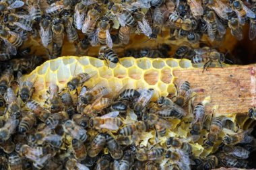
[{"label": "orange-banded bee with spread translucent wings in the top right corner", "polygon": [[249,18],[255,18],[256,15],[251,9],[249,9],[243,1],[235,0],[232,1],[231,4],[232,9],[236,12],[237,18],[239,23],[243,26],[245,25],[247,17]]}]

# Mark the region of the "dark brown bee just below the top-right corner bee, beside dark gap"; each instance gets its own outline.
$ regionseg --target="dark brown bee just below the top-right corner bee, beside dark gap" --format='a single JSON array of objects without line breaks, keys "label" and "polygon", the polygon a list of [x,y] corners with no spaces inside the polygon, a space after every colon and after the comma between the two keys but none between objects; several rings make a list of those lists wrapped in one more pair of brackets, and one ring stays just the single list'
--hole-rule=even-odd
[{"label": "dark brown bee just below the top-right corner bee, beside dark gap", "polygon": [[231,30],[232,36],[234,36],[237,40],[243,40],[242,26],[236,17],[232,17],[228,21],[228,27]]}]

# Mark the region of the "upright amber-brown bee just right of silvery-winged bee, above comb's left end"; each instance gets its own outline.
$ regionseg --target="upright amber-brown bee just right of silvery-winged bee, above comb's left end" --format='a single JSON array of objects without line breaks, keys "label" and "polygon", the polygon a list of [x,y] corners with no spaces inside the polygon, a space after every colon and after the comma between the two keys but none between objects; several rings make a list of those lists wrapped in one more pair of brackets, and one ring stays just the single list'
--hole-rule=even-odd
[{"label": "upright amber-brown bee just right of silvery-winged bee, above comb's left end", "polygon": [[53,18],[51,29],[53,32],[53,42],[61,47],[64,39],[64,26],[62,20],[57,17]]}]

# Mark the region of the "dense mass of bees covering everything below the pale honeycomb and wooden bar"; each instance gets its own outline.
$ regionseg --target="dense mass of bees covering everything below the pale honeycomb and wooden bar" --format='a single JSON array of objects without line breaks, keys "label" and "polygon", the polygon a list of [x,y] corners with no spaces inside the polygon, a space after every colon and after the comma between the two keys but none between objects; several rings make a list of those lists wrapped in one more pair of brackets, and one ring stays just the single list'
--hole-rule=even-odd
[{"label": "dense mass of bees covering everything below the pale honeycomb and wooden bar", "polygon": [[[154,89],[110,90],[84,83],[96,73],[73,75],[65,88],[52,82],[44,103],[32,99],[36,77],[11,87],[0,79],[1,169],[214,169],[252,168],[253,129],[206,113],[206,97],[185,81],[172,97],[153,100]],[[17,93],[15,93],[17,91]],[[255,108],[249,118],[255,120]],[[251,156],[253,157],[253,156]]]}]

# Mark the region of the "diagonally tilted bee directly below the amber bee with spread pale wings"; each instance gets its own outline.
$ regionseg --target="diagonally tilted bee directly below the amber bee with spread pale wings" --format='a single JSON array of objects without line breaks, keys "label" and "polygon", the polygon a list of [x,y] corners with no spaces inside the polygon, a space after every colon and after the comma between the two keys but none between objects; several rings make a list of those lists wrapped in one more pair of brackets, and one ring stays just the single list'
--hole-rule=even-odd
[{"label": "diagonally tilted bee directly below the amber bee with spread pale wings", "polygon": [[94,139],[92,140],[92,143],[90,144],[90,147],[88,148],[88,155],[90,157],[96,157],[100,151],[104,148],[104,145],[106,144],[106,136],[103,133],[97,134]]}]

